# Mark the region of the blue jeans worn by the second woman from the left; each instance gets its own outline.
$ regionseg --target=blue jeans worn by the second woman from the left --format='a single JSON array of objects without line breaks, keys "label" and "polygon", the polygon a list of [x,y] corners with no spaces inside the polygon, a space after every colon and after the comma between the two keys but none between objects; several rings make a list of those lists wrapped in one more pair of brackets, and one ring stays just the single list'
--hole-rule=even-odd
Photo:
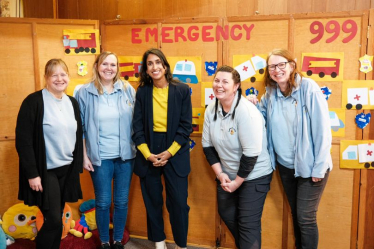
[{"label": "blue jeans worn by the second woman from the left", "polygon": [[109,242],[109,212],[112,204],[113,179],[113,240],[121,241],[126,225],[129,190],[134,159],[102,160],[91,173],[96,198],[96,224],[101,242]]}]

